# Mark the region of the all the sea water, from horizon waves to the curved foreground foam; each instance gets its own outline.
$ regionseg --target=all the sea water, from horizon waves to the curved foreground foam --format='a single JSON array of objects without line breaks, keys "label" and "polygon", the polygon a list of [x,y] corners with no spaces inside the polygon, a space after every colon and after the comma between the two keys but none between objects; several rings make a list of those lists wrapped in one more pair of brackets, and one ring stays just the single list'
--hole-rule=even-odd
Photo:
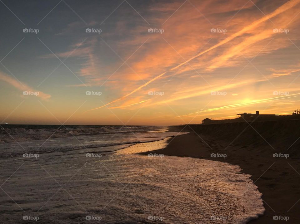
[{"label": "all the sea water, from horizon waves to the curved foreground foam", "polygon": [[51,136],[58,127],[1,130],[2,223],[246,223],[264,212],[261,193],[236,165],[136,154],[185,133],[66,126]]}]

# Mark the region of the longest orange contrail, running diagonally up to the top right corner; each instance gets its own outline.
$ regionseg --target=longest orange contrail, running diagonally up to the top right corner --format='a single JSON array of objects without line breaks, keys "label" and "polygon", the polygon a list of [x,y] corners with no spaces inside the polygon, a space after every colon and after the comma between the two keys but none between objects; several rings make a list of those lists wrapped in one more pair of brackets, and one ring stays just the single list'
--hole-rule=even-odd
[{"label": "longest orange contrail, running diagonally up to the top right corner", "polygon": [[[239,32],[236,32],[236,33],[232,34],[231,36],[229,36],[229,37],[227,37],[226,39],[222,40],[221,42],[217,43],[216,45],[211,46],[211,47],[208,48],[207,50],[199,52],[199,53],[196,54],[195,56],[192,56],[191,58],[189,58],[187,61],[182,62],[182,63],[180,63],[179,65],[177,65],[177,66],[175,66],[175,67],[169,69],[169,71],[173,71],[174,69],[177,69],[177,68],[179,68],[180,66],[183,66],[183,65],[186,64],[187,62],[189,62],[189,61],[191,61],[191,60],[193,60],[193,59],[195,59],[195,58],[201,56],[202,54],[205,54],[205,53],[208,52],[208,51],[211,51],[211,50],[213,50],[213,49],[215,49],[215,48],[217,48],[217,47],[219,47],[219,46],[222,46],[223,44],[227,43],[228,41],[231,41],[231,40],[234,39],[235,37],[238,37],[238,36],[242,35],[243,33],[245,33],[245,32],[247,32],[247,31],[252,30],[253,28],[257,27],[257,25],[259,25],[260,23],[265,22],[266,20],[271,19],[271,18],[277,16],[278,14],[280,14],[280,13],[282,13],[282,12],[285,12],[286,10],[288,10],[288,9],[290,9],[290,8],[292,8],[292,7],[294,7],[294,6],[297,5],[299,2],[300,2],[300,0],[291,0],[291,1],[289,1],[289,2],[286,2],[286,3],[283,4],[282,6],[278,7],[275,11],[273,11],[273,12],[267,14],[266,16],[262,17],[261,19],[255,21],[255,22],[253,22],[253,23],[250,24],[249,26],[244,27],[244,28],[243,28],[242,30],[240,30]],[[101,106],[101,107],[97,107],[97,108],[94,108],[94,109],[91,109],[91,110],[97,110],[97,109],[100,109],[100,108],[105,107],[105,106],[107,106],[107,105],[110,105],[110,104],[112,104],[112,103],[114,103],[114,102],[117,102],[117,101],[119,101],[119,100],[123,100],[124,98],[128,97],[129,95],[131,95],[131,94],[135,93],[136,91],[142,89],[143,87],[145,87],[145,86],[148,85],[149,83],[151,83],[151,82],[157,80],[158,78],[160,78],[161,76],[165,75],[167,72],[168,72],[168,71],[166,71],[166,72],[164,72],[164,73],[162,73],[162,74],[160,74],[160,75],[154,77],[152,80],[150,80],[150,81],[148,81],[147,83],[145,83],[145,84],[139,86],[137,89],[131,91],[130,93],[128,93],[128,94],[126,94],[126,95],[124,95],[124,96],[122,96],[122,97],[120,97],[120,98],[118,98],[118,99],[116,99],[116,100],[113,100],[113,101],[111,101],[111,102],[109,102],[109,103],[107,103],[107,104],[105,104],[105,105],[103,105],[103,106]],[[85,112],[88,112],[88,111],[91,111],[91,110],[87,110],[87,111],[85,111]]]}]

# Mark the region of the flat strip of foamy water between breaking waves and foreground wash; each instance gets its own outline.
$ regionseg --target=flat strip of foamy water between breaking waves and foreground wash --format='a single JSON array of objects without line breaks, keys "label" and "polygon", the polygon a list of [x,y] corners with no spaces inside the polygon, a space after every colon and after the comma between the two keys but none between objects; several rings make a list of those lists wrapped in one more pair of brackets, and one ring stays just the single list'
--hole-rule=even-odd
[{"label": "flat strip of foamy water between breaking waves and foreground wash", "polygon": [[27,139],[27,141],[23,142],[4,143],[0,144],[0,158],[22,156],[24,153],[40,154],[80,149],[83,151],[92,148],[102,152],[115,151],[124,148],[125,145],[153,142],[170,136],[185,134],[178,132],[164,132],[164,130],[142,132],[144,128],[135,130],[136,132],[107,133],[103,135],[88,134],[55,139]]}]

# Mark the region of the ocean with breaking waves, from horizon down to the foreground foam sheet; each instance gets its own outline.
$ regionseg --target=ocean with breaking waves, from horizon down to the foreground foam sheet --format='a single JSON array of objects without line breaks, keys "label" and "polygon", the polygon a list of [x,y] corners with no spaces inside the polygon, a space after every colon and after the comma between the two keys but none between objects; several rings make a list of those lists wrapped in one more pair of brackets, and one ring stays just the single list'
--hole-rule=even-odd
[{"label": "ocean with breaking waves, from horizon down to the foreground foam sheet", "polygon": [[2,125],[0,158],[78,149],[111,152],[178,134],[166,126]]}]

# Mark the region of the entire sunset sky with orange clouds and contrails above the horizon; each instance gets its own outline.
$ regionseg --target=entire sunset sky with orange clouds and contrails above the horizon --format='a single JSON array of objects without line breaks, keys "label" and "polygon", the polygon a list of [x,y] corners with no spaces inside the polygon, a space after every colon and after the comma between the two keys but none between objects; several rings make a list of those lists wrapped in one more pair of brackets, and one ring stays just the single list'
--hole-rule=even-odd
[{"label": "entire sunset sky with orange clouds and contrails above the horizon", "polygon": [[300,109],[300,0],[0,1],[1,124]]}]

